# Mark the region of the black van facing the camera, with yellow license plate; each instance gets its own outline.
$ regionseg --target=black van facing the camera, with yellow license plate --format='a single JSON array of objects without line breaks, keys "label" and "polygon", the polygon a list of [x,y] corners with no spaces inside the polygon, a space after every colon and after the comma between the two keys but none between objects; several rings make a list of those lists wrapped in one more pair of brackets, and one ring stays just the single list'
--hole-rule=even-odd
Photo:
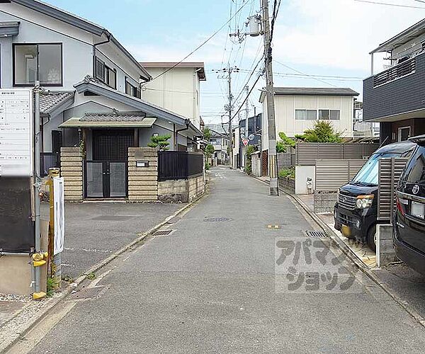
[{"label": "black van facing the camera, with yellow license plate", "polygon": [[[378,223],[378,167],[385,157],[405,157],[416,147],[413,142],[396,142],[376,150],[353,181],[339,188],[334,207],[335,229],[348,239],[367,243],[375,251]],[[388,220],[390,222],[390,220]]]}]

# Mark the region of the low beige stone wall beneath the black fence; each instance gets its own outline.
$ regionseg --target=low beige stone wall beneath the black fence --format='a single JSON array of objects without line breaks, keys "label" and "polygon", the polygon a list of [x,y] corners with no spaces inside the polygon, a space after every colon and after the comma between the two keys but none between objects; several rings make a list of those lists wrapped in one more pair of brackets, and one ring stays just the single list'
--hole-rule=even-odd
[{"label": "low beige stone wall beneath the black fence", "polygon": [[205,193],[204,176],[158,183],[158,198],[162,202],[191,202],[203,193]]}]

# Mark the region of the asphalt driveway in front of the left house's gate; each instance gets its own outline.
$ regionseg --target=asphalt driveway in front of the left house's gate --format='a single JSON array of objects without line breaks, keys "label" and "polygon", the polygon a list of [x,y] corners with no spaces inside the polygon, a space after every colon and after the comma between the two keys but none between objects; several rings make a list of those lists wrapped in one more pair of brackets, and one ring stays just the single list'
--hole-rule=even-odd
[{"label": "asphalt driveway in front of the left house's gate", "polygon": [[[183,206],[124,202],[66,203],[62,275],[78,277]],[[47,219],[48,208],[47,203],[42,203],[42,217]]]}]

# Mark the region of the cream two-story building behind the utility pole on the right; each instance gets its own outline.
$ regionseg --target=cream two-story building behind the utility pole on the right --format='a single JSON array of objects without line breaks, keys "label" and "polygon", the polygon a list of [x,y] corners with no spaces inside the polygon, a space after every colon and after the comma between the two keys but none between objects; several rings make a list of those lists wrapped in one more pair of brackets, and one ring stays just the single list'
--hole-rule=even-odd
[{"label": "cream two-story building behind the utility pole on the right", "polygon": [[[356,91],[346,88],[275,87],[276,137],[284,132],[288,137],[302,135],[317,120],[327,120],[342,137],[353,137],[354,98]],[[262,149],[268,149],[267,98],[263,104]]]}]

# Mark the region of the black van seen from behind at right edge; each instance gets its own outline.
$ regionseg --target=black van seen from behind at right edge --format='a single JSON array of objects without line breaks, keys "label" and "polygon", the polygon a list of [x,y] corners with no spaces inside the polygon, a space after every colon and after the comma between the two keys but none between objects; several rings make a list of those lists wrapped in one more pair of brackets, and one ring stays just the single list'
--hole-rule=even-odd
[{"label": "black van seen from behind at right edge", "polygon": [[397,187],[392,233],[397,257],[425,275],[425,135],[410,140],[417,147]]}]

